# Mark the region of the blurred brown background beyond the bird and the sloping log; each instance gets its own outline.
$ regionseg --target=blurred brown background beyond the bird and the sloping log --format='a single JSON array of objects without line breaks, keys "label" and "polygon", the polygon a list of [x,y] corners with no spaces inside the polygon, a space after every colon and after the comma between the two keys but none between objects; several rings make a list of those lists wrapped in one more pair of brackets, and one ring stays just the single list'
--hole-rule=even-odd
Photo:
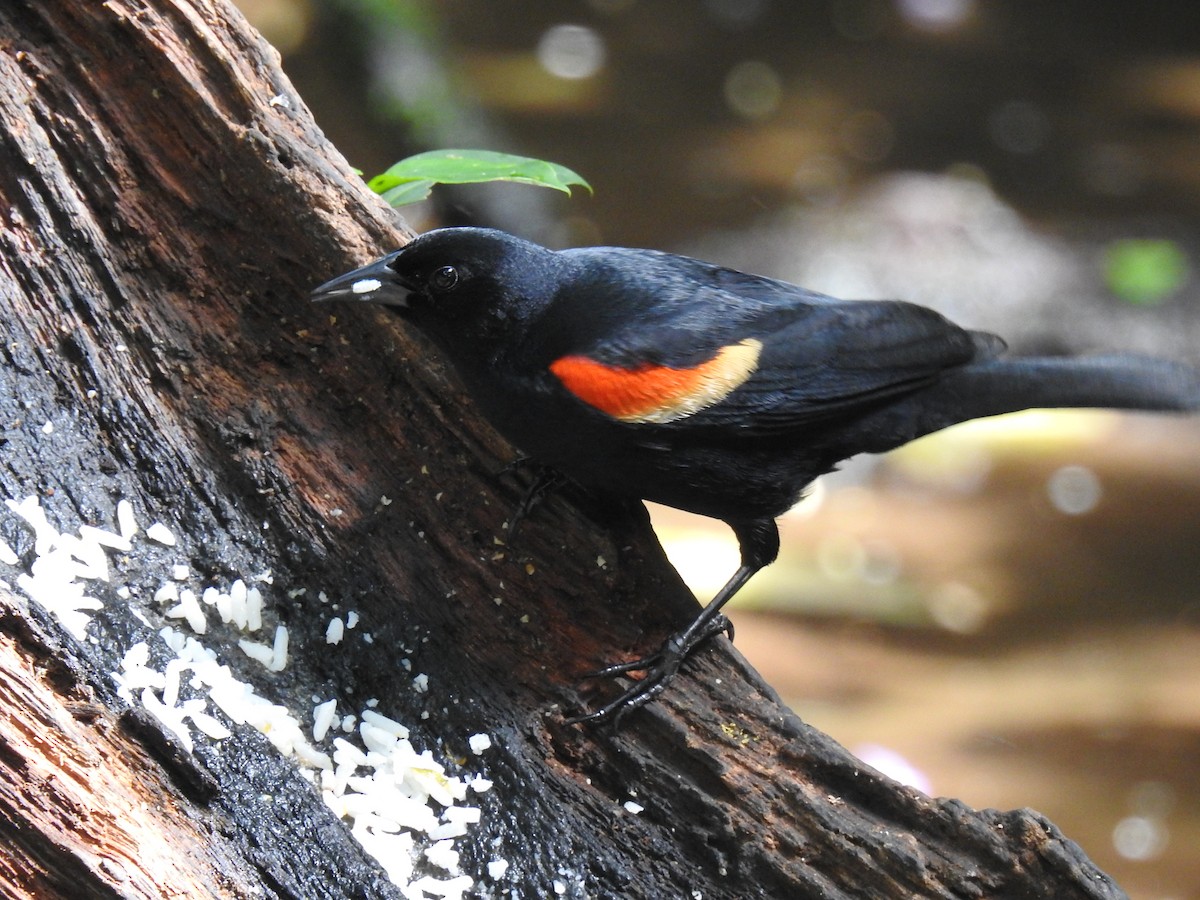
[{"label": "blurred brown background beyond the bird and the sloping log", "polygon": [[[1200,5],[240,2],[367,175],[482,148],[595,188],[437,188],[414,228],[671,250],[1018,352],[1200,364]],[[732,536],[654,515],[707,600]],[[734,618],[802,718],[930,793],[1040,810],[1135,898],[1200,898],[1200,421],[961,426],[781,526]]]}]

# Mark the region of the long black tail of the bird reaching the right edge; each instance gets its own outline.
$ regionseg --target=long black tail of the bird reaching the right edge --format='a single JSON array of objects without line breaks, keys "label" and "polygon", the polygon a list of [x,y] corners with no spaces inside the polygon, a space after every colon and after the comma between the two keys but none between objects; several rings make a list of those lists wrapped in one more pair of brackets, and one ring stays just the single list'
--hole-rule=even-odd
[{"label": "long black tail of the bird reaching the right edge", "polygon": [[1058,408],[1200,412],[1200,372],[1147,356],[986,359],[881,409],[865,431],[882,452],[968,419]]}]

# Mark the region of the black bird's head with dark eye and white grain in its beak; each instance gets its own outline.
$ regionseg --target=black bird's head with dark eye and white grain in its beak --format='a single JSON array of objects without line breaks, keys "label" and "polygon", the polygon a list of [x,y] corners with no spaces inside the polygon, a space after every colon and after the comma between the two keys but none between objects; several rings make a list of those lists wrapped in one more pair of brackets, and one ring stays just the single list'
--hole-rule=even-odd
[{"label": "black bird's head with dark eye and white grain in its beak", "polygon": [[313,300],[365,300],[398,312],[452,355],[510,341],[556,288],[558,254],[490,228],[439,228],[341,275]]}]

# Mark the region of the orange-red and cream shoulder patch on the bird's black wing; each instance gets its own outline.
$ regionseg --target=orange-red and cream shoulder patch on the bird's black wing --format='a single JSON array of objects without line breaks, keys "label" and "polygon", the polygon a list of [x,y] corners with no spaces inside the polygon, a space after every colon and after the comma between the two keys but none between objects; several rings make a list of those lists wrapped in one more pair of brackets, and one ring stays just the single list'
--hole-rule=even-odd
[{"label": "orange-red and cream shoulder patch on the bird's black wing", "polygon": [[754,374],[761,353],[762,342],[746,338],[691,368],[622,368],[587,356],[563,356],[550,371],[566,390],[613,419],[665,424],[725,400]]}]

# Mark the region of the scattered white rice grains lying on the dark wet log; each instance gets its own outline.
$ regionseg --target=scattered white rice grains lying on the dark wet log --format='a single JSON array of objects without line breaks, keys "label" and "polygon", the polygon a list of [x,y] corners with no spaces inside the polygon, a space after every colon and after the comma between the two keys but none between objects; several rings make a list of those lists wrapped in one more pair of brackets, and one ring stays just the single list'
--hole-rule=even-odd
[{"label": "scattered white rice grains lying on the dark wet log", "polygon": [[[134,551],[132,538],[138,533],[138,524],[132,505],[127,500],[118,504],[114,532],[83,526],[78,535],[60,534],[47,520],[36,497],[7,500],[6,505],[25,521],[35,538],[37,558],[28,575],[18,576],[18,584],[31,600],[53,612],[84,640],[89,623],[86,611],[102,606],[96,598],[85,595],[84,580],[109,577],[108,551]],[[166,546],[175,544],[174,534],[161,522],[150,526],[146,536]],[[0,541],[0,563],[20,564],[16,551],[4,541]],[[270,574],[246,576],[245,581],[238,578],[228,593],[217,587],[205,587],[203,592],[198,587],[194,590],[184,587],[193,576],[190,564],[176,563],[170,566],[170,580],[158,584],[152,594],[155,604],[169,607],[166,616],[184,619],[188,625],[187,629],[167,626],[160,630],[173,658],[160,672],[150,664],[149,644],[145,641],[134,643],[122,656],[120,671],[112,676],[119,696],[131,703],[140,701],[187,751],[193,750],[196,734],[209,740],[226,740],[232,737],[228,721],[252,725],[281,754],[293,757],[301,767],[300,774],[320,790],[330,809],[348,820],[354,836],[366,852],[380,860],[406,896],[462,898],[469,892],[474,882],[458,874],[460,856],[454,845],[480,821],[481,812],[478,806],[456,804],[463,803],[469,792],[479,794],[490,790],[492,782],[481,775],[464,780],[448,774],[431,751],[418,752],[413,748],[406,726],[374,712],[378,701],[373,698],[367,701],[362,714],[355,716],[340,715],[336,698],[322,702],[319,696],[313,697],[310,733],[304,726],[302,713],[296,718],[286,707],[256,694],[234,677],[229,666],[218,662],[216,650],[191,634],[206,631],[208,607],[216,607],[223,622],[242,631],[260,631],[265,604],[257,586],[270,583]],[[256,587],[247,587],[247,582]],[[114,588],[119,596],[131,596],[127,586]],[[287,593],[295,598],[302,590]],[[322,602],[330,604],[324,592],[318,596]],[[336,610],[337,605],[331,604],[331,611]],[[359,622],[358,611],[346,611],[329,622],[326,640],[343,641],[346,630]],[[364,634],[364,641],[370,643],[370,635]],[[283,625],[275,629],[270,646],[248,640],[239,641],[238,646],[274,672],[287,667],[289,631]],[[410,662],[407,670],[413,671]],[[188,700],[181,698],[185,684]],[[428,690],[428,677],[416,674],[413,684],[416,690]],[[211,714],[210,709],[222,710],[228,719]],[[352,743],[347,737],[355,727],[359,734]],[[332,737],[331,752],[317,749],[318,742],[334,734],[337,737]],[[472,736],[468,743],[476,755],[491,746],[486,734]],[[422,856],[428,865],[444,870],[448,877],[426,876],[410,884],[413,860]],[[493,859],[488,864],[493,880],[508,871],[506,860]]]}]

